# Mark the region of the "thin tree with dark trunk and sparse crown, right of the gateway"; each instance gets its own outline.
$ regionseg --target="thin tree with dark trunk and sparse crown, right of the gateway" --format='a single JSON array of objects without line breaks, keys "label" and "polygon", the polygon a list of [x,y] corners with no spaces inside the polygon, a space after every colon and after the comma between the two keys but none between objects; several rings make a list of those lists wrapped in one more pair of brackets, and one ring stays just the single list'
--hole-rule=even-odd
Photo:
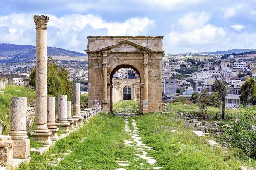
[{"label": "thin tree with dark trunk and sparse crown, right of the gateway", "polygon": [[221,80],[216,79],[216,81],[212,85],[212,91],[218,91],[219,93],[219,96],[222,101],[221,119],[225,119],[227,82],[222,82]]}]

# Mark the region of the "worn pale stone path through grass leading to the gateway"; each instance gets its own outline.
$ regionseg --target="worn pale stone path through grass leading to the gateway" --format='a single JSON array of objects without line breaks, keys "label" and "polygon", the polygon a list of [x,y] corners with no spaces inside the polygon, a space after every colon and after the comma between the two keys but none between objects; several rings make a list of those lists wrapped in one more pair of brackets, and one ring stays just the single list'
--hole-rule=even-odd
[{"label": "worn pale stone path through grass leading to the gateway", "polygon": [[[157,160],[154,159],[154,157],[148,156],[147,150],[152,150],[152,147],[148,147],[146,144],[144,144],[141,141],[142,137],[140,137],[140,132],[138,130],[138,127],[136,125],[136,121],[134,119],[135,114],[115,113],[115,115],[116,116],[124,116],[124,121],[125,121],[124,132],[125,132],[126,135],[131,136],[131,139],[132,139],[132,140],[124,140],[124,142],[128,147],[132,147],[135,150],[133,160],[137,161],[137,165],[135,165],[135,167],[137,168],[136,170],[162,169],[163,167],[156,167],[155,166],[155,163],[157,162]],[[131,127],[129,126],[128,117],[131,117],[131,120],[132,120],[131,124],[132,124],[132,129],[133,130],[131,130]],[[142,159],[144,159],[145,161],[140,162]],[[146,162],[146,164],[145,164],[145,162]],[[118,163],[119,166],[120,166],[120,168],[117,168],[116,170],[127,170],[125,167],[128,168],[128,166],[130,165],[131,162],[129,162],[128,159],[126,159],[125,161],[116,161],[116,163]],[[150,168],[145,168],[145,167],[150,167]]]}]

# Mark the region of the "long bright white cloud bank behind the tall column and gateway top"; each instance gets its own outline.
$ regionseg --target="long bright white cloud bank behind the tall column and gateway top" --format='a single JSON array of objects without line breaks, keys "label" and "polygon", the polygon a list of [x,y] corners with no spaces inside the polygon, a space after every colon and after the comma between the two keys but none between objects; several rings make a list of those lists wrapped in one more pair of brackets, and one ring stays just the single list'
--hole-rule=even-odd
[{"label": "long bright white cloud bank behind the tall column and gateway top", "polygon": [[[88,35],[146,34],[154,20],[134,17],[124,22],[106,22],[98,15],[69,14],[63,17],[48,15],[47,45],[75,51],[86,48]],[[31,14],[0,16],[0,40],[5,43],[35,45],[35,23]]]}]

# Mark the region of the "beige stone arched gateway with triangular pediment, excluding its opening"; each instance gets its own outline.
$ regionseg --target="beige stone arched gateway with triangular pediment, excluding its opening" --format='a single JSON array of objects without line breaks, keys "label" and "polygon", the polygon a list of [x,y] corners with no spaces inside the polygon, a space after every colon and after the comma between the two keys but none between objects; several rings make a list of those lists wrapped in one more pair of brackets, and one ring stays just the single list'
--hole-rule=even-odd
[{"label": "beige stone arched gateway with triangular pediment, excluding its opening", "polygon": [[112,113],[112,79],[121,68],[140,76],[140,113],[162,110],[163,36],[89,36],[89,102],[102,101],[102,111]]}]

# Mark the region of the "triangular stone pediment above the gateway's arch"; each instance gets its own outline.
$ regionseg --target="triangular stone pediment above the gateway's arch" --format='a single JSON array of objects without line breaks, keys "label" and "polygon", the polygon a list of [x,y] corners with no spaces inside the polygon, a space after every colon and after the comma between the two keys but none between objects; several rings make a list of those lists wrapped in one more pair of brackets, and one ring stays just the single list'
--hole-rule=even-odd
[{"label": "triangular stone pediment above the gateway's arch", "polygon": [[150,51],[150,49],[128,40],[122,40],[115,45],[102,48],[101,51],[131,52],[131,51]]}]

